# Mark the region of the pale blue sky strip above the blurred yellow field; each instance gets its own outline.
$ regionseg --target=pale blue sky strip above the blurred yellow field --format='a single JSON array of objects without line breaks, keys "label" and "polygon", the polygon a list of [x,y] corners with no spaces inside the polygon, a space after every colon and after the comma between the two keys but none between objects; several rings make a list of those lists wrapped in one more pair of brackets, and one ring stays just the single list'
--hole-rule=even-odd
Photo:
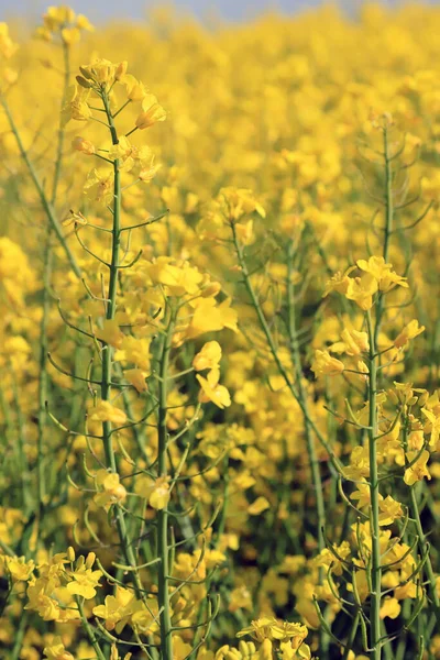
[{"label": "pale blue sky strip above the blurred yellow field", "polygon": [[[66,0],[64,0],[66,2]],[[68,0],[67,0],[68,1]],[[185,12],[190,12],[199,18],[204,15],[220,15],[230,20],[244,20],[256,13],[278,8],[283,11],[292,12],[301,9],[316,7],[322,0],[174,0],[175,4]],[[355,8],[363,0],[339,0],[346,8]],[[396,4],[399,0],[383,0],[387,4]],[[433,3],[440,3],[440,0],[426,0]],[[11,15],[26,15],[30,21],[41,15],[48,4],[62,4],[56,0],[0,0],[0,20],[8,19]],[[67,3],[67,2],[66,2]],[[116,16],[125,16],[135,20],[142,20],[145,16],[146,8],[154,4],[162,4],[161,0],[70,0],[70,4],[77,12],[87,14],[92,21],[100,22]]]}]

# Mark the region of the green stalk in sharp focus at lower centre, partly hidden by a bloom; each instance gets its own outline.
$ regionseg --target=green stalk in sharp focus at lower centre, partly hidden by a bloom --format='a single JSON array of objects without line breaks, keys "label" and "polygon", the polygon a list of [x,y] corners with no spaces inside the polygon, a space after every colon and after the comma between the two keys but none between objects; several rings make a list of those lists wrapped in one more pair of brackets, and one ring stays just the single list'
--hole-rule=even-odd
[{"label": "green stalk in sharp focus at lower centre, partly hidden by a bloom", "polygon": [[[174,312],[170,312],[166,334],[162,342],[158,385],[157,440],[158,476],[167,476],[167,375],[169,351],[172,348]],[[168,547],[168,513],[166,507],[157,512],[157,557],[161,559],[157,571],[157,602],[161,610],[161,656],[162,660],[173,660],[172,618],[169,609],[169,547]]]}]

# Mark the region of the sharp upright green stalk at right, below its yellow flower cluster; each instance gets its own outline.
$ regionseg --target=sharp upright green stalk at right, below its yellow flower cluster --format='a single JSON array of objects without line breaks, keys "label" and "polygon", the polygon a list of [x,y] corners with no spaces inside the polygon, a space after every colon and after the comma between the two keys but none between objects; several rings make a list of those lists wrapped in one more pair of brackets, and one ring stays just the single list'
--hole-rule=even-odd
[{"label": "sharp upright green stalk at right, below its yellow flower cluster", "polygon": [[[371,502],[371,536],[372,536],[372,556],[371,556],[371,614],[370,614],[370,647],[372,649],[372,658],[381,660],[381,598],[382,598],[382,566],[381,566],[381,542],[380,542],[380,490],[377,474],[377,451],[376,439],[378,436],[377,422],[377,363],[376,363],[376,344],[374,340],[373,323],[370,311],[366,312],[366,323],[370,339],[370,378],[369,378],[369,404],[370,404],[370,431],[369,431],[369,449],[370,449],[370,502]],[[377,328],[377,326],[376,326]]]}]

